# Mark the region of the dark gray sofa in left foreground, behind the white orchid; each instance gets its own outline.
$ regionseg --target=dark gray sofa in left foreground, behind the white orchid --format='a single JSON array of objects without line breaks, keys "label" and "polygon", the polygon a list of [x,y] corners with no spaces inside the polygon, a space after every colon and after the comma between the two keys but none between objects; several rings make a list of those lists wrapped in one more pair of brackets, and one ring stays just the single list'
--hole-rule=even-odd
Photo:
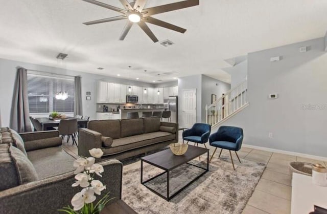
[{"label": "dark gray sofa in left foreground, behind the white orchid", "polygon": [[[75,182],[74,157],[61,148],[58,131],[17,134],[0,128],[0,213],[58,213],[81,190]],[[110,196],[121,198],[123,165],[101,162],[100,179]],[[100,197],[98,197],[100,198]]]}]

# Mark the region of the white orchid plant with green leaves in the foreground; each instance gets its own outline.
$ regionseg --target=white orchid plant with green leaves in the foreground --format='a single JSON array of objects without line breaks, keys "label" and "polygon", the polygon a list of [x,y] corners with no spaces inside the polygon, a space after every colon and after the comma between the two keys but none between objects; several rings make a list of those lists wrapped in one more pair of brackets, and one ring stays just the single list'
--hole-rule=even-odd
[{"label": "white orchid plant with green leaves in the foreground", "polygon": [[93,204],[96,200],[96,195],[101,195],[101,191],[106,188],[105,185],[99,180],[95,180],[95,176],[102,177],[101,173],[104,172],[103,166],[101,164],[95,163],[95,158],[101,158],[103,152],[100,148],[92,148],[89,150],[92,157],[79,158],[74,161],[75,179],[76,182],[73,183],[73,187],[80,186],[83,189],[75,194],[72,198],[71,208],[69,205],[59,211],[69,213],[69,214],[99,214],[104,206],[113,198],[109,198],[109,193],[98,203]]}]

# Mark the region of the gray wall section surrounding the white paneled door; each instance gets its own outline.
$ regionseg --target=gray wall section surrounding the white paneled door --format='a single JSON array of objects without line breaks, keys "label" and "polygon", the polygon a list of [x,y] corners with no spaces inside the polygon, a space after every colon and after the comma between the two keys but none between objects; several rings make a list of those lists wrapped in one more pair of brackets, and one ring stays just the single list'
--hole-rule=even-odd
[{"label": "gray wall section surrounding the white paneled door", "polygon": [[196,122],[201,122],[201,74],[178,79],[178,123],[182,126],[182,94],[184,89],[196,89]]}]

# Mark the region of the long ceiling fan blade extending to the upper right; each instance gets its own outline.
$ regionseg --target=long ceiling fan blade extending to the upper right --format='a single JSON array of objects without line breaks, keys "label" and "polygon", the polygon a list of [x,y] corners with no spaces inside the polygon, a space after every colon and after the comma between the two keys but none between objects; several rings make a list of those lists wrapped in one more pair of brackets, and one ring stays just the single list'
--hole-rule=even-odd
[{"label": "long ceiling fan blade extending to the upper right", "polygon": [[188,7],[193,7],[199,5],[199,0],[187,0],[187,1],[182,1],[182,2],[176,2],[168,5],[161,5],[157,7],[152,7],[152,8],[146,8],[142,11],[143,16],[150,16],[158,13],[166,13],[169,11],[173,10],[179,10],[183,8],[188,8]]}]

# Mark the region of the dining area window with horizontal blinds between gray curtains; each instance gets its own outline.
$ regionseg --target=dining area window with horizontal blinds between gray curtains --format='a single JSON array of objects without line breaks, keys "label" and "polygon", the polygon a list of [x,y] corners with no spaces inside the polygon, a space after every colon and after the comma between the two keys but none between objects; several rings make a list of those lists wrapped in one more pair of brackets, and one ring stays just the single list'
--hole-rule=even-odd
[{"label": "dining area window with horizontal blinds between gray curtains", "polygon": [[[74,79],[27,75],[27,90],[31,114],[74,112]],[[67,92],[66,100],[56,99],[56,93]]]}]

